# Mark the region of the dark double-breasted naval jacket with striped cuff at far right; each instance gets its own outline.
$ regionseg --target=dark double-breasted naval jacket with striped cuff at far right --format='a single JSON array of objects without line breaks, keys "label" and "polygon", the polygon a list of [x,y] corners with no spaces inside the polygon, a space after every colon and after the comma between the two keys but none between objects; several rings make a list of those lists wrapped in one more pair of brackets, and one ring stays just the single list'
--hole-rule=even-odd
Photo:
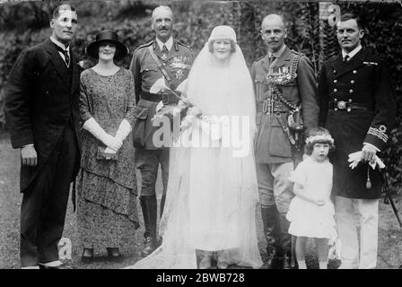
[{"label": "dark double-breasted naval jacket with striped cuff at far right", "polygon": [[[380,174],[367,163],[351,170],[348,154],[363,143],[383,151],[395,122],[396,101],[387,64],[362,48],[348,62],[342,54],[328,59],[319,74],[319,121],[335,139],[329,154],[334,164],[336,196],[374,199],[380,197]],[[369,173],[369,175],[368,175]],[[370,178],[371,188],[366,187]]]}]

